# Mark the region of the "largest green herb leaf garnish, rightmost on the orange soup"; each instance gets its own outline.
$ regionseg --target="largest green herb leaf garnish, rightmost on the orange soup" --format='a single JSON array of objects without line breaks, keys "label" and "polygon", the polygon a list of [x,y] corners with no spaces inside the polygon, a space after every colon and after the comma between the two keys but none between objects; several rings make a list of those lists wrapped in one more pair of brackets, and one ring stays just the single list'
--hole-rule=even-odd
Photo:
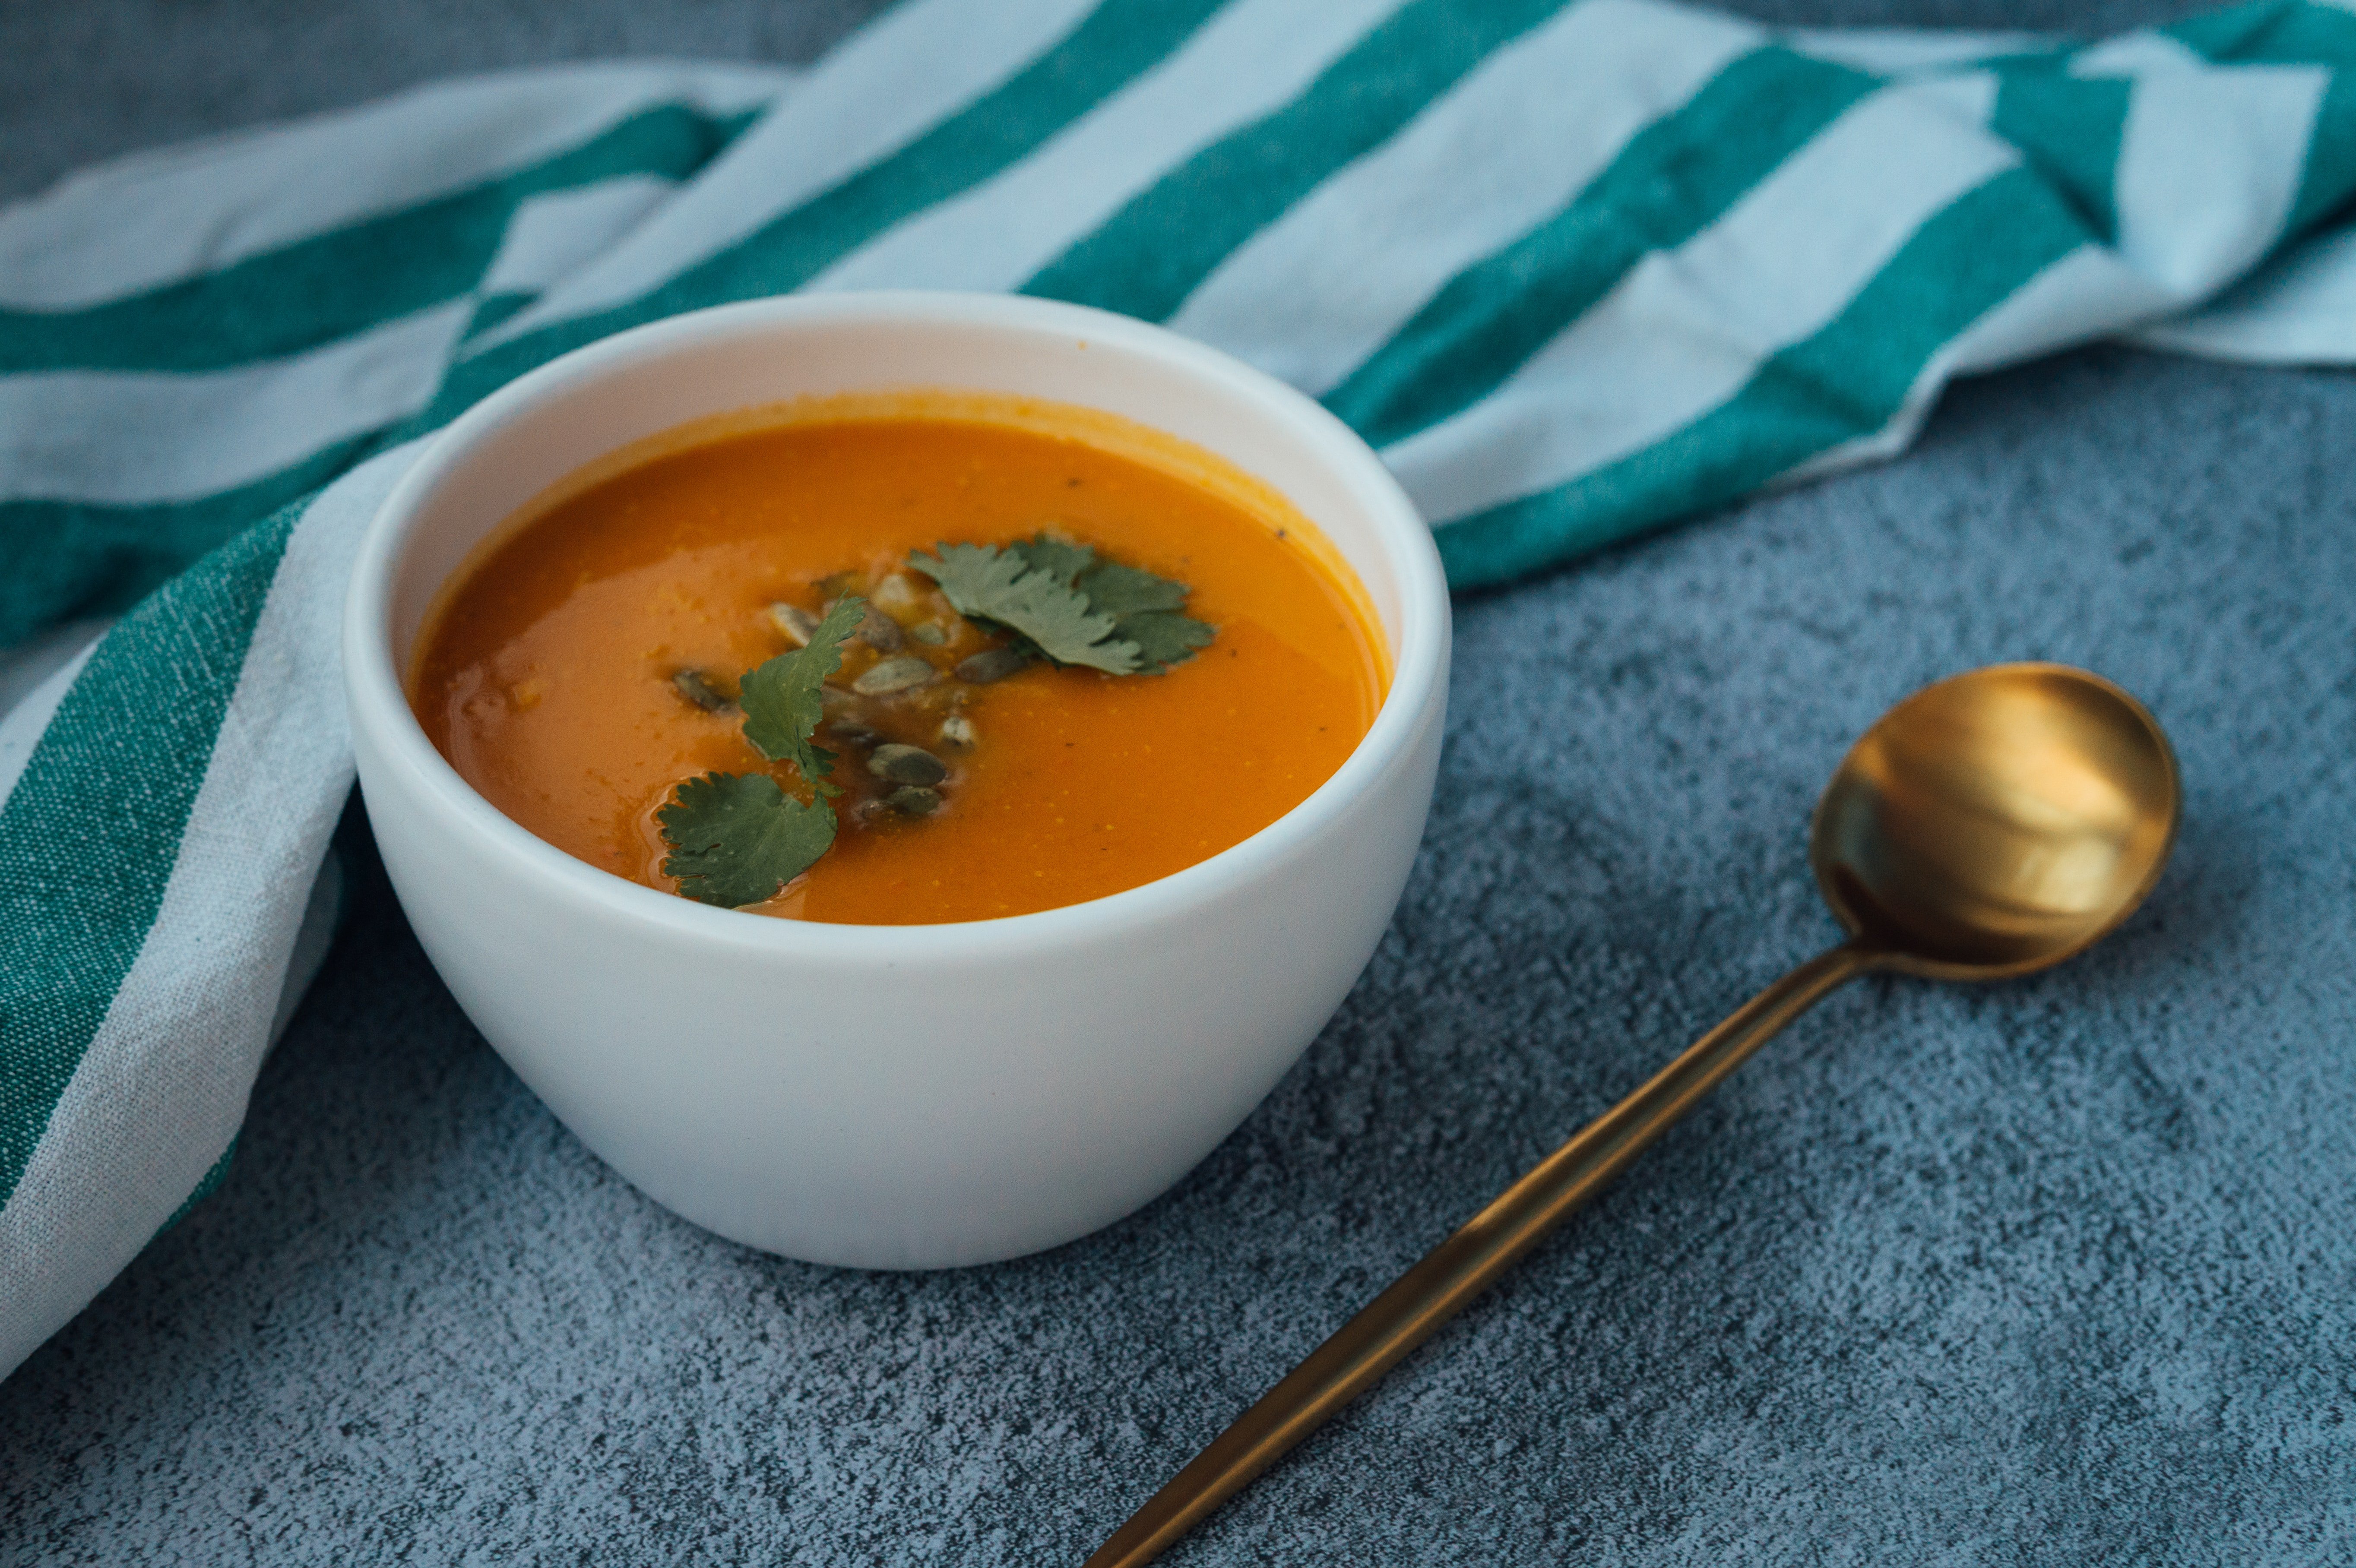
[{"label": "largest green herb leaf garnish, rightmost on the orange soup", "polygon": [[1086,544],[1037,534],[1004,549],[938,549],[938,558],[909,556],[909,567],[938,582],[959,614],[1008,631],[1020,652],[1051,664],[1159,673],[1192,659],[1213,636],[1180,614],[1185,584],[1098,560]]}]

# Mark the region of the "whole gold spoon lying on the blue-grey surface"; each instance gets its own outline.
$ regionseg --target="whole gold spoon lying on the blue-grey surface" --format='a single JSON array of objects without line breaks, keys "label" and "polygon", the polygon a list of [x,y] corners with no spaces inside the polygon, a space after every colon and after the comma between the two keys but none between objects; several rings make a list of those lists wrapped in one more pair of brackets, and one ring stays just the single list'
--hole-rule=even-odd
[{"label": "whole gold spoon lying on the blue-grey surface", "polygon": [[2177,836],[2177,763],[2135,697],[2064,664],[1922,687],[1842,758],[1807,857],[1849,939],[1774,982],[1472,1215],[1138,1509],[1086,1568],[1136,1568],[1487,1290],[1743,1057],[1873,970],[2003,979],[2144,902]]}]

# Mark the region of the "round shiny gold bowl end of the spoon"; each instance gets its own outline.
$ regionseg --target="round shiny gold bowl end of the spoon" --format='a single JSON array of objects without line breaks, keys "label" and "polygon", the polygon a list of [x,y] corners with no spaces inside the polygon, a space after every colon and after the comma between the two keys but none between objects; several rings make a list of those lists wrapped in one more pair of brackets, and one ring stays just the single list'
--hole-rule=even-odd
[{"label": "round shiny gold bowl end of the spoon", "polygon": [[2000,979],[2125,921],[2177,810],[2177,763],[2144,704],[2066,664],[1993,664],[1922,687],[1849,749],[1809,864],[1878,968]]}]

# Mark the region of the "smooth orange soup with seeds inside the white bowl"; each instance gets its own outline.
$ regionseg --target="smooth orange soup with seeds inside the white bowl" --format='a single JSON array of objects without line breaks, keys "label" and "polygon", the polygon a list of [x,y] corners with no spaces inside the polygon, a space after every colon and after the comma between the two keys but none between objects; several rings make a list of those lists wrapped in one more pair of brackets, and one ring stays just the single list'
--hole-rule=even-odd
[{"label": "smooth orange soup with seeds inside the white bowl", "polygon": [[[813,737],[843,791],[832,845],[744,904],[858,925],[1105,897],[1308,798],[1388,678],[1331,546],[1194,447],[1084,410],[980,407],[737,421],[558,487],[443,591],[410,673],[419,723],[540,838],[681,892],[662,812],[683,782],[766,772],[813,800],[747,742],[740,685],[865,598]],[[1159,673],[1055,664],[909,565],[945,544],[1053,544],[1183,584],[1209,643]]]}]

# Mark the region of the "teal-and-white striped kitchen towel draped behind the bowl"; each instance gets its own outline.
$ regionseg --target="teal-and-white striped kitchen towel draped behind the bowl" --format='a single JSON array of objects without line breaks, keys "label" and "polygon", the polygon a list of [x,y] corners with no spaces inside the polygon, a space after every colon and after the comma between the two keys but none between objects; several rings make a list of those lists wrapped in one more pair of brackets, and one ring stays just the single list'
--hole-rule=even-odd
[{"label": "teal-and-white striped kitchen towel draped behind the bowl", "polygon": [[782,290],[1096,304],[1324,400],[1470,586],[2064,344],[2356,358],[2351,191],[2330,5],[909,0],[803,73],[483,78],[0,212],[0,1373],[221,1170],[332,906],[353,542],[518,372]]}]

